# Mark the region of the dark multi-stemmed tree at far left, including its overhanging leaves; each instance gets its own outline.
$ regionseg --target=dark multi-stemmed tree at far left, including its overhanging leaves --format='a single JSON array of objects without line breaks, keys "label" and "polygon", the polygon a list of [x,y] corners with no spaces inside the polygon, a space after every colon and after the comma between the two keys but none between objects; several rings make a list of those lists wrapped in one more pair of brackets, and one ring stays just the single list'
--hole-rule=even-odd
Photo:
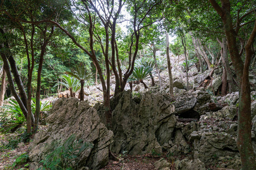
[{"label": "dark multi-stemmed tree at far left, including its overhanging leaves", "polygon": [[[51,7],[49,7],[49,4],[57,5],[59,8],[55,8],[55,10],[52,10]],[[1,6],[1,18],[6,20],[9,20],[7,22],[7,26],[10,28],[18,28],[22,32],[23,40],[24,40],[24,46],[26,49],[26,55],[28,60],[28,97],[26,95],[26,92],[24,90],[24,86],[22,81],[20,80],[20,75],[18,73],[18,69],[15,64],[15,59],[13,55],[9,52],[8,54],[3,54],[2,58],[5,59],[5,57],[9,60],[11,69],[14,74],[16,85],[18,86],[19,92],[20,92],[20,99],[22,100],[22,104],[20,102],[19,105],[21,108],[23,108],[23,114],[27,118],[27,131],[30,133],[31,131],[31,123],[34,124],[33,127],[33,133],[35,134],[38,130],[38,121],[39,121],[39,112],[40,112],[40,90],[41,90],[41,73],[43,68],[43,61],[44,61],[44,54],[46,54],[46,48],[49,43],[49,40],[51,39],[53,32],[54,32],[54,26],[51,23],[34,23],[35,20],[43,20],[45,18],[51,19],[52,17],[55,19],[59,19],[59,14],[57,14],[58,11],[63,11],[63,6],[60,4],[63,2],[55,2],[55,1],[43,1],[42,3],[23,3],[20,1],[3,1]],[[58,6],[60,5],[60,6]],[[30,10],[27,10],[30,9]],[[68,13],[66,13],[68,14]],[[61,15],[64,18],[67,18],[69,15]],[[10,24],[11,23],[11,24]],[[28,28],[31,28],[30,31],[28,29],[24,29],[25,24],[31,25],[31,27],[28,26]],[[6,25],[4,25],[6,26]],[[27,26],[27,25],[26,25]],[[31,80],[32,80],[32,72],[34,70],[34,61],[35,61],[35,43],[34,43],[34,35],[35,35],[35,28],[38,28],[36,31],[36,35],[38,35],[38,46],[39,46],[39,66],[38,66],[38,74],[37,74],[37,88],[36,88],[36,111],[35,111],[35,123],[33,121],[33,114],[31,110]],[[5,31],[1,31],[1,33],[5,33]],[[31,33],[31,39],[30,39],[30,48],[28,45],[28,33]],[[5,49],[9,48],[9,42],[5,41]],[[30,54],[31,54],[31,60],[30,60]],[[5,62],[6,69],[9,69],[9,63]],[[6,70],[7,71],[7,70]],[[8,74],[7,74],[8,76]],[[8,76],[9,81],[11,81],[11,75]],[[11,88],[12,92],[15,91],[15,88]],[[15,94],[15,92],[13,92]],[[16,95],[15,95],[16,96]],[[17,100],[19,96],[16,96],[15,99]],[[17,100],[19,101],[19,99]],[[32,118],[32,120],[31,120]],[[32,122],[31,122],[32,121]]]}]

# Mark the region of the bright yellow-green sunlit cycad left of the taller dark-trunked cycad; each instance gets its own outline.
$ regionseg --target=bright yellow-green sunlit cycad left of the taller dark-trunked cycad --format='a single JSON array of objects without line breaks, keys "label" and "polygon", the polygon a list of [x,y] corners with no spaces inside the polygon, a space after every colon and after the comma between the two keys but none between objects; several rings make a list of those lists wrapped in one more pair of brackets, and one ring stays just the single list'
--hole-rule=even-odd
[{"label": "bright yellow-green sunlit cycad left of the taller dark-trunked cycad", "polygon": [[70,91],[70,96],[74,97],[73,92],[77,92],[81,87],[79,80],[77,80],[76,78],[73,78],[70,75],[61,75],[60,78],[63,80],[63,82],[57,82],[55,86],[62,85],[68,88]]}]

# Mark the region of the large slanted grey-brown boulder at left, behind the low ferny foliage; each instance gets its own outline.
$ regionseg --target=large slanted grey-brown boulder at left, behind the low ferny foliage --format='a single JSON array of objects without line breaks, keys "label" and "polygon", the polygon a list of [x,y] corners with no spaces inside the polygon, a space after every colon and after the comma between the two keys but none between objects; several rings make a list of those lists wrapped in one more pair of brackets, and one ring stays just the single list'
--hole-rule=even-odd
[{"label": "large slanted grey-brown boulder at left, behind the low ferny foliage", "polygon": [[[100,122],[96,109],[90,107],[85,101],[61,98],[53,105],[51,112],[47,117],[48,130],[37,133],[30,145],[28,155],[31,162],[40,162],[49,154],[46,143],[66,141],[75,134],[77,139],[93,144],[93,148],[89,148],[80,155],[81,167],[99,169],[108,163],[108,147],[112,141],[113,132],[106,129]],[[36,167],[36,163],[34,164]]]}]

